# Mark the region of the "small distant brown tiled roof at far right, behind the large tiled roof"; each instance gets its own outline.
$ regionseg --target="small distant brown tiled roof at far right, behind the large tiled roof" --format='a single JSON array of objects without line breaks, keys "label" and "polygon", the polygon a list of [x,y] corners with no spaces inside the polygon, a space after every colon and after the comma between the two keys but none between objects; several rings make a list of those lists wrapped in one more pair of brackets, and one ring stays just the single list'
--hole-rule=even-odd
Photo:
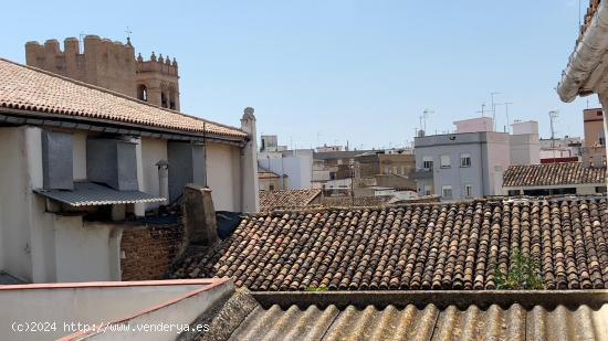
[{"label": "small distant brown tiled roof at far right, behind the large tiled roof", "polygon": [[605,168],[588,168],[581,162],[510,166],[503,175],[503,187],[562,184],[602,184]]}]

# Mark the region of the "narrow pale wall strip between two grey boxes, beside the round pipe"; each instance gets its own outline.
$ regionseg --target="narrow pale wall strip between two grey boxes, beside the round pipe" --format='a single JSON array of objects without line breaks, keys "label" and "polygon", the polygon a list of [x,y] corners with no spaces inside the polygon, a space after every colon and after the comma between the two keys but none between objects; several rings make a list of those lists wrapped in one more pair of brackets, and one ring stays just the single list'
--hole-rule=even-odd
[{"label": "narrow pale wall strip between two grey boxes, beside the round pipe", "polygon": [[[160,139],[141,139],[141,174],[143,187],[141,191],[159,195],[160,190],[158,187],[158,167],[156,163],[160,160],[167,160],[167,140]],[[170,169],[169,169],[170,171]],[[167,189],[165,189],[168,193]],[[146,210],[158,207],[160,202],[146,204]]]}]

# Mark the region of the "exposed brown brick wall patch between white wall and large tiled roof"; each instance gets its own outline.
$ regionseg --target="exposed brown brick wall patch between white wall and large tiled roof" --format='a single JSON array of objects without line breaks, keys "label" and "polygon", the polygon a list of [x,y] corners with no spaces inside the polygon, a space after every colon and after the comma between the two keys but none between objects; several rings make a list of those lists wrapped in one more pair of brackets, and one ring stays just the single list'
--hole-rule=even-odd
[{"label": "exposed brown brick wall patch between white wall and large tiled roof", "polygon": [[122,280],[163,279],[184,242],[182,225],[125,227],[120,242]]}]

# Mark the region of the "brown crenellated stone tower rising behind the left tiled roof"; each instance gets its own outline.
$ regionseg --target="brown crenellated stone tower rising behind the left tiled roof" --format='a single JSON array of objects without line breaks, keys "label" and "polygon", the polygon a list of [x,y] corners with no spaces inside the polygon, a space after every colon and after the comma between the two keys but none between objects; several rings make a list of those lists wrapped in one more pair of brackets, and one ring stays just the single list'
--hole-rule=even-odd
[{"label": "brown crenellated stone tower rising behind the left tiled roof", "polygon": [[179,74],[177,61],[151,53],[145,60],[127,38],[127,43],[86,35],[82,41],[67,38],[63,43],[50,39],[41,44],[25,43],[25,61],[81,82],[136,97],[150,104],[179,110]]}]

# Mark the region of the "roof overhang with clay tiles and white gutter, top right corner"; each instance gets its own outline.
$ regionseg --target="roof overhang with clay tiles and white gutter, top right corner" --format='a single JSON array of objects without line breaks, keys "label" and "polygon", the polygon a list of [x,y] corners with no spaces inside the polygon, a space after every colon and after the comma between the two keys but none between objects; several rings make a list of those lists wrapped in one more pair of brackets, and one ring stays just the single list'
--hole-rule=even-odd
[{"label": "roof overhang with clay tiles and white gutter, top right corner", "polygon": [[557,85],[563,102],[599,94],[608,88],[608,1],[600,1]]}]

